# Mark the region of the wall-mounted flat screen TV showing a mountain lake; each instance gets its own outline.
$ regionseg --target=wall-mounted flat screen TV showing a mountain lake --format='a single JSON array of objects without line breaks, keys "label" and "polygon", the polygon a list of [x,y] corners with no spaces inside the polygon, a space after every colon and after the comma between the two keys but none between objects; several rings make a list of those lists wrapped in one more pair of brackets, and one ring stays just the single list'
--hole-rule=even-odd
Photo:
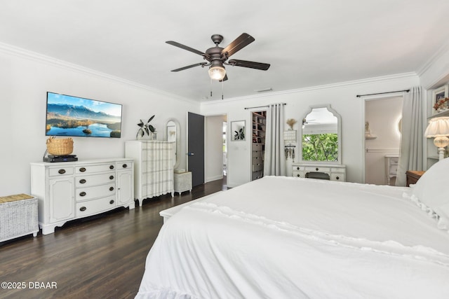
[{"label": "wall-mounted flat screen TV showing a mountain lake", "polygon": [[47,92],[46,136],[121,137],[121,104]]}]

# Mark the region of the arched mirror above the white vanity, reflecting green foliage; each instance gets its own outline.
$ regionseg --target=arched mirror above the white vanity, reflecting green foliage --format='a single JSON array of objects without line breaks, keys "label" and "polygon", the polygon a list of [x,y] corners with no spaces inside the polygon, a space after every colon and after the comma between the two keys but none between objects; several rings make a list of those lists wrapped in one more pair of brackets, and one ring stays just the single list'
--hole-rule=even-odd
[{"label": "arched mirror above the white vanity, reflecting green foliage", "polygon": [[342,120],[326,106],[310,106],[302,117],[300,161],[338,163],[342,161]]}]

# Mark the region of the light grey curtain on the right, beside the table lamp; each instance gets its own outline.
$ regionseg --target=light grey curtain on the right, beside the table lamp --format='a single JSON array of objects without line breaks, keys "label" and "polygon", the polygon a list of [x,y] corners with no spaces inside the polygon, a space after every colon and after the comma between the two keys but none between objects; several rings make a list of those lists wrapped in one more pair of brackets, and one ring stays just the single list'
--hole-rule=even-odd
[{"label": "light grey curtain on the right, beside the table lamp", "polygon": [[422,170],[423,153],[422,88],[411,88],[403,99],[401,149],[396,186],[406,186],[407,170]]}]

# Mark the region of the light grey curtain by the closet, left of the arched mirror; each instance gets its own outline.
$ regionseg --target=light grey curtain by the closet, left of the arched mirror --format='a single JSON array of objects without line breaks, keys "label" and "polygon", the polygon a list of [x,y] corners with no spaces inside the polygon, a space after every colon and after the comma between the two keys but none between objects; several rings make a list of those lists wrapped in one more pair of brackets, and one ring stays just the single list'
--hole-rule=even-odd
[{"label": "light grey curtain by the closet, left of the arched mirror", "polygon": [[285,176],[286,161],[283,148],[284,104],[269,105],[265,128],[264,176]]}]

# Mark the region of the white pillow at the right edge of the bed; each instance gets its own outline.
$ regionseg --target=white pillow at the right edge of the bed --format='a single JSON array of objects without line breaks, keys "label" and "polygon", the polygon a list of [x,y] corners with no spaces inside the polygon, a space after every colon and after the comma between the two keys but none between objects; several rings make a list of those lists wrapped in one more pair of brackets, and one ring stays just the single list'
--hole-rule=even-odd
[{"label": "white pillow at the right edge of the bed", "polygon": [[412,195],[438,215],[438,228],[449,230],[449,158],[436,162],[424,172]]}]

